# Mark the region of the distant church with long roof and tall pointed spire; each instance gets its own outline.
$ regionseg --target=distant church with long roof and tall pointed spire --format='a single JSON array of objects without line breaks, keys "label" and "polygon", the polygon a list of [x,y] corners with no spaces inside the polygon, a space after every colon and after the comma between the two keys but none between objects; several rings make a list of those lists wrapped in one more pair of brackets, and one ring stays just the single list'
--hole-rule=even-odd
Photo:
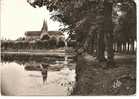
[{"label": "distant church with long roof and tall pointed spire", "polygon": [[48,31],[48,26],[44,20],[41,31],[27,31],[25,32],[26,40],[48,40],[49,38],[55,37],[64,40],[64,34],[61,31]]}]

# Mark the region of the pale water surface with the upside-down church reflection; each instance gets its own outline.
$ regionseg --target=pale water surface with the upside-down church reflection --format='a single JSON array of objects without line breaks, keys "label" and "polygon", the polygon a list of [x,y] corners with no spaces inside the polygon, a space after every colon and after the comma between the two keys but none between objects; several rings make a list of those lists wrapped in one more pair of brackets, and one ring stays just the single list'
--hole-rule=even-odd
[{"label": "pale water surface with the upside-down church reflection", "polygon": [[54,60],[55,64],[35,60],[22,64],[22,61],[1,63],[5,95],[70,95],[75,83],[75,65],[67,58],[66,62]]}]

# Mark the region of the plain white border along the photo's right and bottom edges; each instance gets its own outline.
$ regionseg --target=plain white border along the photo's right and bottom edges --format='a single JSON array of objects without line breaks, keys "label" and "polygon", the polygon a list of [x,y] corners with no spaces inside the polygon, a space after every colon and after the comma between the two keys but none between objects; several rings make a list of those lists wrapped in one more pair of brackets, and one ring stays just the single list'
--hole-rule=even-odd
[{"label": "plain white border along the photo's right and bottom edges", "polygon": [[[136,2],[136,6],[137,6],[137,46],[139,46],[139,43],[138,43],[138,40],[139,40],[139,0],[135,0]],[[136,90],[136,95],[134,96],[0,96],[1,99],[5,99],[5,98],[10,98],[10,99],[15,99],[15,98],[20,98],[20,99],[38,99],[38,98],[45,98],[45,99],[48,99],[48,98],[52,98],[52,99],[57,99],[57,98],[60,98],[60,99],[65,99],[65,98],[68,98],[68,99],[73,99],[73,98],[97,98],[97,99],[123,99],[123,98],[126,98],[126,99],[130,99],[130,98],[135,98],[135,99],[139,99],[139,86],[138,86],[138,83],[139,83],[139,67],[138,67],[138,62],[139,62],[139,49],[137,48],[137,90]]]}]

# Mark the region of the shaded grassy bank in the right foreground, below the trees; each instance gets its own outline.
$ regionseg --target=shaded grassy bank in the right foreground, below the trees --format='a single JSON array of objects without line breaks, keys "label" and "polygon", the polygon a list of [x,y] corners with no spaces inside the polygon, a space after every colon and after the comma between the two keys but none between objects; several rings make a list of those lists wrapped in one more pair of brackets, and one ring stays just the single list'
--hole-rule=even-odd
[{"label": "shaded grassy bank in the right foreground, below the trees", "polygon": [[72,95],[136,94],[136,56],[116,55],[114,59],[115,66],[107,67],[93,56],[78,56]]}]

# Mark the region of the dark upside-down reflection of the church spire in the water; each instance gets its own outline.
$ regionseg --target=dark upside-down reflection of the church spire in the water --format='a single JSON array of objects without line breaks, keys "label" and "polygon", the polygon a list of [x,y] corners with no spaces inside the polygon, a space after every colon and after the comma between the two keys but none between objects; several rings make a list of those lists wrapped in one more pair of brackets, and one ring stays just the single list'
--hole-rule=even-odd
[{"label": "dark upside-down reflection of the church spire in the water", "polygon": [[42,77],[43,77],[43,84],[45,84],[45,82],[47,80],[48,66],[49,66],[48,64],[40,64],[41,73],[42,73]]}]

